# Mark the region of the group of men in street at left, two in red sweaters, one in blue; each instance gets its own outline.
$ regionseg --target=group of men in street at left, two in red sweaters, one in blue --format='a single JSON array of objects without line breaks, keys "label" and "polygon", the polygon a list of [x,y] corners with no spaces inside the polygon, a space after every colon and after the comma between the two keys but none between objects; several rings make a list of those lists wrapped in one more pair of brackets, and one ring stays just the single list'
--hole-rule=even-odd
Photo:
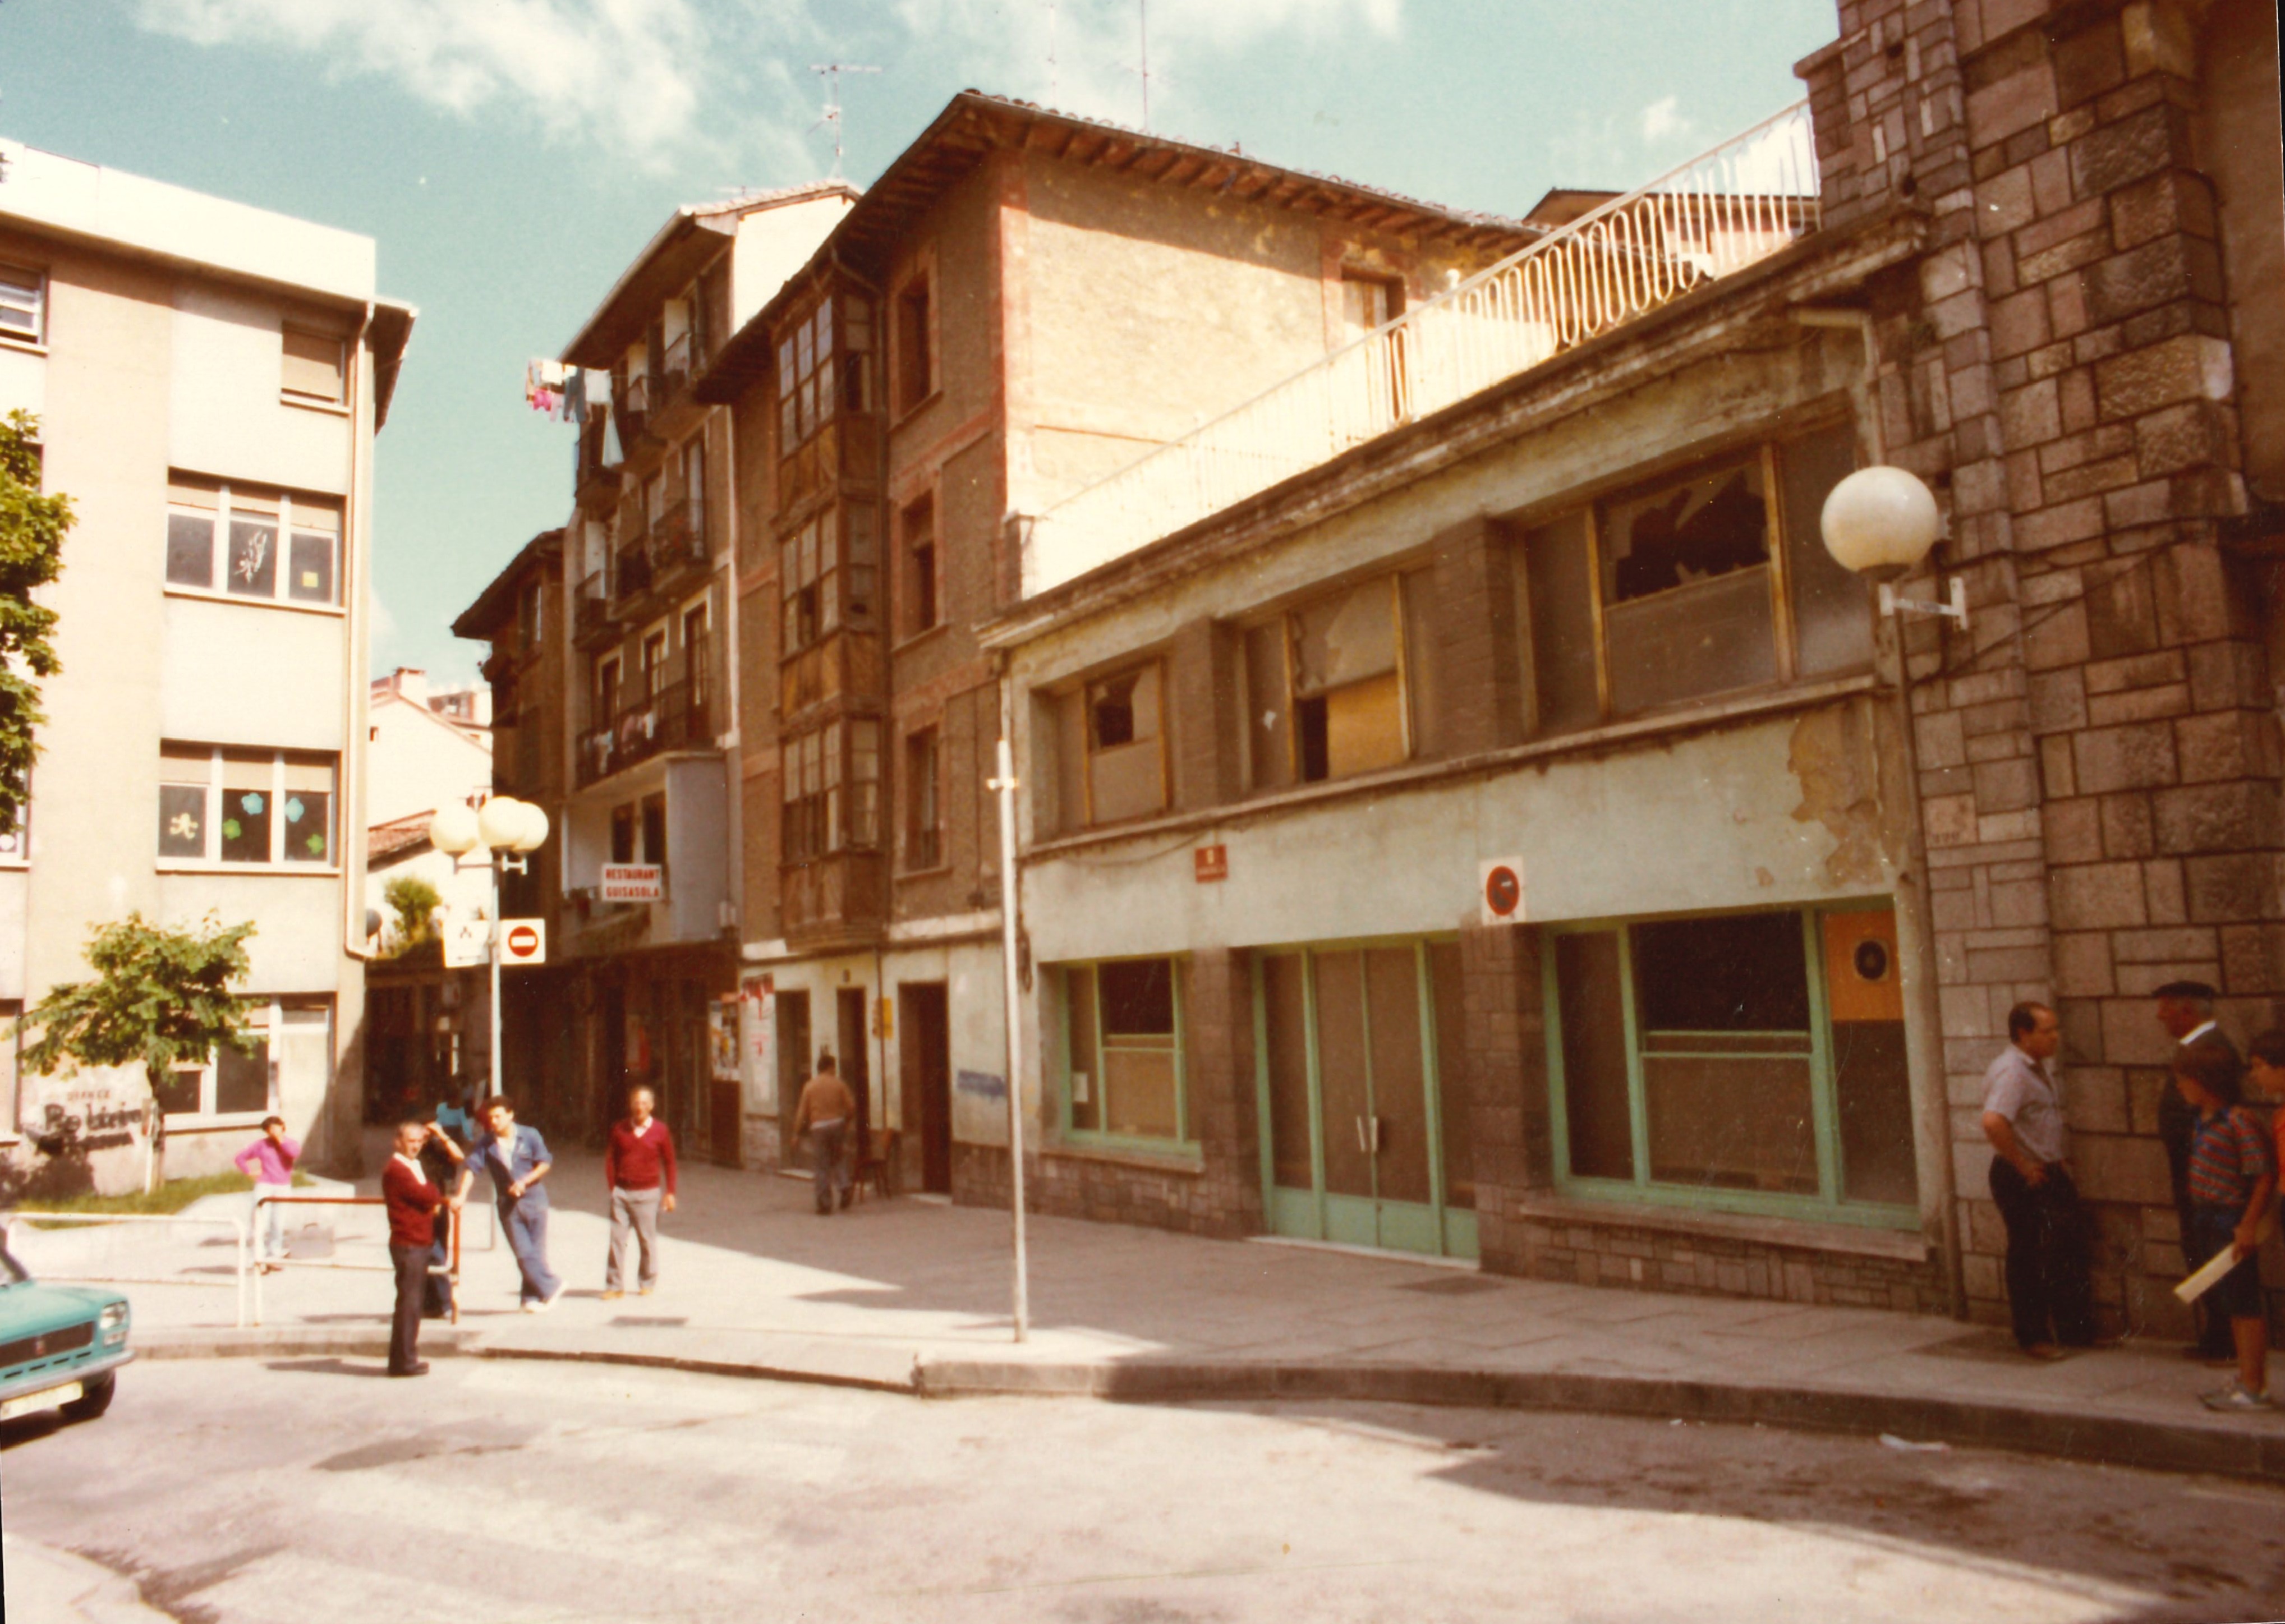
[{"label": "group of men in street at left, two in red sweaters, one in blue", "polygon": [[[658,1215],[674,1211],[674,1135],[654,1115],[647,1087],[628,1094],[628,1112],[610,1128],[603,1179],[610,1188],[610,1261],[603,1297],[622,1291],[619,1261],[628,1231],[638,1247],[638,1284],[658,1288]],[[516,1256],[516,1300],[526,1313],[546,1313],[564,1293],[548,1268],[546,1179],[555,1158],[539,1128],[516,1121],[516,1108],[500,1094],[478,1110],[446,1103],[430,1121],[407,1117],[395,1131],[395,1153],[382,1169],[388,1206],[388,1259],[395,1265],[398,1302],[388,1338],[388,1373],[420,1375],[420,1320],[450,1311],[450,1224],[466,1206],[478,1169],[489,1174],[500,1231]]]}]

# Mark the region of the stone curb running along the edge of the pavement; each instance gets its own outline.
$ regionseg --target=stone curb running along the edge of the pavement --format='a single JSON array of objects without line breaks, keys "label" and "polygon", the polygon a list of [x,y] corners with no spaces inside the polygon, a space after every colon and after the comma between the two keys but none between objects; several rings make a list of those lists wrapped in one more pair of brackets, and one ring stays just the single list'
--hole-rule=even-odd
[{"label": "stone curb running along the edge of the pavement", "polygon": [[[135,1341],[142,1359],[249,1359],[276,1354],[356,1354],[382,1359],[379,1329],[263,1327],[238,1332],[149,1332]],[[1913,1393],[1867,1393],[1835,1386],[1762,1386],[1673,1377],[1586,1375],[1563,1370],[1469,1370],[1401,1364],[1302,1361],[1019,1361],[930,1359],[916,1354],[903,1380],[850,1375],[825,1364],[770,1359],[699,1359],[610,1348],[487,1345],[482,1332],[427,1327],[420,1352],[439,1357],[546,1359],[688,1370],[761,1382],[804,1382],[909,1398],[1099,1398],[1108,1402],[1389,1402],[1469,1409],[1545,1409],[1659,1421],[1721,1421],[1803,1432],[1881,1432],[1963,1448],[2002,1448],[2056,1460],[2214,1473],[2285,1482],[2285,1425],[2198,1425],[2088,1416],[2070,1409],[1993,1405]]]}]

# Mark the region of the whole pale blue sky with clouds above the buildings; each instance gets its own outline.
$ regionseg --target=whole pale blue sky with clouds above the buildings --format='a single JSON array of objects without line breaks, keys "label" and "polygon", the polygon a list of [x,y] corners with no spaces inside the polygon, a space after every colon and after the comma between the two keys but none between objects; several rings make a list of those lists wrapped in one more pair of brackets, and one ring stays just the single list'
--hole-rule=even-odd
[{"label": "whole pale blue sky with clouds above the buildings", "polygon": [[[1145,0],[1149,123],[1460,208],[1627,187],[1801,96],[1833,0]],[[962,87],[1140,123],[1138,0],[0,0],[0,132],[379,240],[375,667],[569,507],[523,407],[672,208],[875,176]]]}]

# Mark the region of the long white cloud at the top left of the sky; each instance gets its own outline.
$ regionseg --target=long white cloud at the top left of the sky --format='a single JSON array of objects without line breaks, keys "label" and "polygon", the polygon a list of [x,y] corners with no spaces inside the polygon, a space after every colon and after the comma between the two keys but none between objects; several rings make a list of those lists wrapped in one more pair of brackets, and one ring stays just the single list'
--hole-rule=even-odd
[{"label": "long white cloud at the top left of the sky", "polygon": [[603,126],[656,162],[699,130],[708,30],[692,0],[142,0],[201,46],[265,43],[436,107],[507,107],[548,135]]}]

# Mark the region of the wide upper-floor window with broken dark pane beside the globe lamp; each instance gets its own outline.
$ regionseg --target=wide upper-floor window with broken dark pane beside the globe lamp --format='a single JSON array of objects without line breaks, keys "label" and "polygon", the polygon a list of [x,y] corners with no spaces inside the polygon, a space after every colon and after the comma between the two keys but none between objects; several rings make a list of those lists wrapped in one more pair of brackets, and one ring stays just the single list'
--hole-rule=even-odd
[{"label": "wide upper-floor window with broken dark pane beside the globe lamp", "polygon": [[1835,425],[1531,528],[1515,592],[1536,731],[1867,667],[1865,582],[1819,530],[1853,466]]}]

